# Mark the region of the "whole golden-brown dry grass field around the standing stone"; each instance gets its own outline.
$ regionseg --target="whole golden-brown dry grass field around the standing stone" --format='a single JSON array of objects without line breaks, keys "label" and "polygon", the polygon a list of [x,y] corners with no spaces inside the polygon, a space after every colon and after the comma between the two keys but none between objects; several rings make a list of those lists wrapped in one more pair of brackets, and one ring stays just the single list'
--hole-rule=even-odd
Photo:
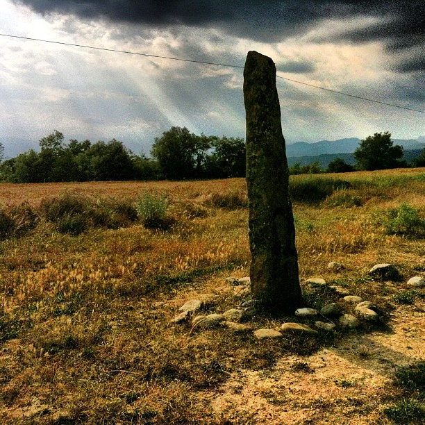
[{"label": "whole golden-brown dry grass field around the standing stone", "polygon": [[[291,184],[306,306],[338,301],[338,285],[378,324],[257,340],[170,322],[189,299],[202,314],[249,299],[226,281],[249,275],[242,179],[0,185],[0,422],[423,423],[424,289],[407,281],[425,277],[425,169]],[[140,215],[147,193],[165,199],[162,224]],[[374,281],[376,263],[401,280]]]}]

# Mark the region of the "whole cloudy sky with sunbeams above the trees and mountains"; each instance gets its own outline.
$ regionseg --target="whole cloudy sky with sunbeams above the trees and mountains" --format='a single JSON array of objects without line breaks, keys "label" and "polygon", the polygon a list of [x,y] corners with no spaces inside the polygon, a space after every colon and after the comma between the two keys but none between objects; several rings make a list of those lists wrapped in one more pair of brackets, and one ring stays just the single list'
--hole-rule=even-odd
[{"label": "whole cloudy sky with sunbeams above the trees and mountains", "polygon": [[[0,0],[0,33],[244,65],[425,110],[423,1]],[[171,126],[244,137],[243,69],[0,36],[0,142],[117,138],[135,153]],[[425,135],[423,113],[278,78],[287,142],[390,131]],[[27,146],[15,146],[27,149]]]}]

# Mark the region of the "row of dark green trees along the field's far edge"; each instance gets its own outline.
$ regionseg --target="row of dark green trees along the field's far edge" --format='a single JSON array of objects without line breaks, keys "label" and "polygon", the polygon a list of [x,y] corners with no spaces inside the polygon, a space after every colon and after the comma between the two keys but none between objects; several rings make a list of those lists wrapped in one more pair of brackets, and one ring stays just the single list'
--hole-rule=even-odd
[{"label": "row of dark green trees along the field's far edge", "polygon": [[[135,155],[118,140],[69,140],[54,130],[40,140],[40,151],[30,149],[3,160],[0,143],[0,180],[10,183],[58,181],[183,180],[244,177],[246,145],[242,138],[195,135],[188,128],[172,127],[155,138],[151,158]],[[356,166],[340,158],[322,169],[319,163],[295,164],[290,174],[338,173],[408,167],[401,160],[403,147],[393,146],[391,134],[375,133],[362,140],[354,152]],[[425,167],[425,149],[412,164]]]}]

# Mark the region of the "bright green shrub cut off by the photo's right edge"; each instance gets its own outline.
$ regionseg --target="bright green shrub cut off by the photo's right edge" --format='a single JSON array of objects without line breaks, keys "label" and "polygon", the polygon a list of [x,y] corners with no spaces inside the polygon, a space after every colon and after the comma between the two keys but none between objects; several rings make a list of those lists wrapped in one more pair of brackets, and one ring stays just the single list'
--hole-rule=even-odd
[{"label": "bright green shrub cut off by the photo's right edge", "polygon": [[425,237],[425,219],[419,215],[417,208],[407,203],[388,211],[383,226],[389,235]]}]

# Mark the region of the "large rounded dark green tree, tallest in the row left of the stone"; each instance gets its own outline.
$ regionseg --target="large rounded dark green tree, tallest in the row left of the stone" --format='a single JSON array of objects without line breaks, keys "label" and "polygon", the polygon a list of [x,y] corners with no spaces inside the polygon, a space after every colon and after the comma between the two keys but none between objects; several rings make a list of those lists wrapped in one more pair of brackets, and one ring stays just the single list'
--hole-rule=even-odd
[{"label": "large rounded dark green tree, tallest in the row left of the stone", "polygon": [[156,138],[151,156],[158,160],[165,178],[192,178],[195,169],[198,137],[186,127],[172,127]]}]

